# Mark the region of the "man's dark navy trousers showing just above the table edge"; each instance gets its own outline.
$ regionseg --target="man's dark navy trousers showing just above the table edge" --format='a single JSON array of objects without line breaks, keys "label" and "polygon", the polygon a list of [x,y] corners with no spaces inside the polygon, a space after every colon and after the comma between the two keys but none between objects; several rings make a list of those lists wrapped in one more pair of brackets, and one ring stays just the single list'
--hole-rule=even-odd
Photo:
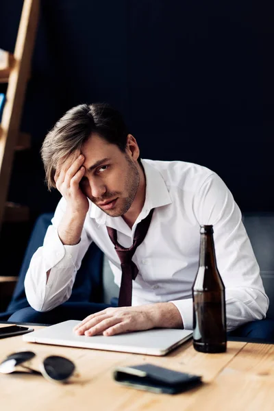
[{"label": "man's dark navy trousers showing just above the table edge", "polygon": [[[27,307],[12,314],[8,321],[39,324],[56,324],[66,320],[81,321],[88,315],[105,310],[108,307],[110,306],[101,303],[64,303],[47,312],[38,312],[31,307]],[[231,339],[236,337],[244,338],[247,341],[258,340],[258,342],[274,343],[274,320],[251,321],[227,333],[227,336]]]}]

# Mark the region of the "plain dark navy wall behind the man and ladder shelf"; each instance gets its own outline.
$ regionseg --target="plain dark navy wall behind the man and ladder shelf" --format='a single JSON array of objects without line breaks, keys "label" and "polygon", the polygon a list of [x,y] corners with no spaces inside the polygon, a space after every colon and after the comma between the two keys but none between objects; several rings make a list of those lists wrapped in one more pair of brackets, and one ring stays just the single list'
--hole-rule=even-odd
[{"label": "plain dark navy wall behind the man and ladder shelf", "polygon": [[[0,1],[3,49],[22,4]],[[273,16],[263,0],[42,0],[21,127],[32,150],[16,154],[9,199],[33,219],[53,210],[45,134],[73,105],[108,101],[143,158],[203,164],[242,211],[273,210]]]}]

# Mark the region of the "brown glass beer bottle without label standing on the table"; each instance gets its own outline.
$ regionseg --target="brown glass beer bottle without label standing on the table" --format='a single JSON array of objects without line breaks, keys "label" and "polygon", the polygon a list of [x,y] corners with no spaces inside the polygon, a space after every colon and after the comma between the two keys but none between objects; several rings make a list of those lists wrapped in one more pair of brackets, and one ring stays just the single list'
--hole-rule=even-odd
[{"label": "brown glass beer bottle without label standing on the table", "polygon": [[192,286],[193,346],[203,353],[227,349],[225,286],[217,269],[212,225],[201,225],[199,269]]}]

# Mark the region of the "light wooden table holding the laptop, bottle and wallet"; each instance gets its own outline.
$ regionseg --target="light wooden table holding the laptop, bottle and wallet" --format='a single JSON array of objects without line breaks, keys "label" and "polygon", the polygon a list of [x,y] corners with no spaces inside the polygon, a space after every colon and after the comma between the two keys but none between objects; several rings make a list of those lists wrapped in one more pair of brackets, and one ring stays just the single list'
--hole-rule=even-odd
[{"label": "light wooden table holding the laptop, bottle and wallet", "polygon": [[[153,357],[25,343],[15,336],[0,340],[0,360],[21,349],[35,351],[37,364],[43,356],[66,356],[77,365],[79,377],[61,385],[36,375],[0,374],[1,410],[274,410],[274,345],[229,342],[226,353],[203,354],[188,341],[167,356]],[[159,395],[114,382],[116,366],[145,362],[202,375],[204,384],[182,394]]]}]

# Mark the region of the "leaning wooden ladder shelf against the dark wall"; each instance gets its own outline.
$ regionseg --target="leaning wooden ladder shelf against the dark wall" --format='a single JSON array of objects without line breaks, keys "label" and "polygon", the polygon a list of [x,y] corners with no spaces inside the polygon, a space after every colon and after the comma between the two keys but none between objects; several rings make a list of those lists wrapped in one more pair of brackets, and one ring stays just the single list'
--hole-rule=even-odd
[{"label": "leaning wooden ladder shelf against the dark wall", "polygon": [[[0,125],[0,229],[4,216],[18,221],[20,207],[6,204],[14,151],[30,146],[30,136],[20,133],[21,115],[29,79],[32,52],[38,25],[39,0],[25,0],[16,38],[14,54],[0,53],[0,82],[7,82],[5,105]],[[8,207],[8,210],[6,208]],[[25,210],[25,208],[24,208]],[[25,217],[24,217],[25,219]]]}]

